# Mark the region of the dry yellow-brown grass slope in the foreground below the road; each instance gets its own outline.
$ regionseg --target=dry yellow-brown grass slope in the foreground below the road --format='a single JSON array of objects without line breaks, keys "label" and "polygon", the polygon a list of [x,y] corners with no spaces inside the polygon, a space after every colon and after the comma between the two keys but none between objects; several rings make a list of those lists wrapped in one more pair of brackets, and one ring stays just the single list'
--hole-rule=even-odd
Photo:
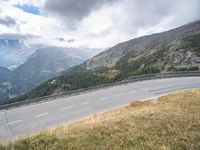
[{"label": "dry yellow-brown grass slope in the foreground below the road", "polygon": [[133,102],[0,148],[199,150],[200,90]]}]

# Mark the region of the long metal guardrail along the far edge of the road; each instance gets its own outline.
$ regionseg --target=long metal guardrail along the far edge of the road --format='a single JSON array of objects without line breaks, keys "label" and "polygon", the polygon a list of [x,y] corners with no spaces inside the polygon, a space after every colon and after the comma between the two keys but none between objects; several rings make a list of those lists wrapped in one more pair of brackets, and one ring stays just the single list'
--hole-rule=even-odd
[{"label": "long metal guardrail along the far edge of the road", "polygon": [[105,88],[105,87],[111,87],[114,85],[128,84],[130,82],[153,80],[153,79],[163,79],[163,78],[174,78],[174,77],[197,77],[197,76],[200,76],[200,71],[167,72],[167,73],[155,73],[155,74],[133,76],[133,77],[129,77],[126,80],[122,80],[120,82],[102,84],[102,85],[92,86],[92,87],[88,87],[88,88],[84,88],[84,89],[73,90],[73,91],[69,91],[69,92],[65,92],[65,93],[59,93],[59,94],[55,94],[55,95],[39,97],[39,98],[29,99],[29,100],[25,100],[25,101],[14,102],[14,103],[10,103],[10,104],[3,104],[3,105],[0,105],[0,110],[18,107],[18,106],[22,106],[22,105],[29,105],[29,104],[38,103],[38,102],[51,101],[51,100],[55,100],[57,98],[83,94],[85,92],[90,92],[90,91],[94,91],[94,90]]}]

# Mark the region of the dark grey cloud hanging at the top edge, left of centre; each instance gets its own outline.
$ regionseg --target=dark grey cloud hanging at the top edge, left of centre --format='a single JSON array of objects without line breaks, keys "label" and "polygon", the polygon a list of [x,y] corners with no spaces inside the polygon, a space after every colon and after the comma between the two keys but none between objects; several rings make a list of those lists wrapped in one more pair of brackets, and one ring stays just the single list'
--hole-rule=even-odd
[{"label": "dark grey cloud hanging at the top edge, left of centre", "polygon": [[117,0],[47,0],[45,10],[62,18],[66,25],[75,26],[76,23],[87,17],[92,11],[98,10],[105,4]]}]

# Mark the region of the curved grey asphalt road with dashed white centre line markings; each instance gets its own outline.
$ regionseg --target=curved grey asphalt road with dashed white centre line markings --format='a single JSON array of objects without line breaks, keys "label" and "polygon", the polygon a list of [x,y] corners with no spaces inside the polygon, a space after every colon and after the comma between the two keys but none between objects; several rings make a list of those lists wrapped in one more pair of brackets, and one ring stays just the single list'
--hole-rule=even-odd
[{"label": "curved grey asphalt road with dashed white centre line markings", "polygon": [[77,96],[0,111],[0,141],[178,90],[200,88],[200,77],[156,79],[99,89]]}]

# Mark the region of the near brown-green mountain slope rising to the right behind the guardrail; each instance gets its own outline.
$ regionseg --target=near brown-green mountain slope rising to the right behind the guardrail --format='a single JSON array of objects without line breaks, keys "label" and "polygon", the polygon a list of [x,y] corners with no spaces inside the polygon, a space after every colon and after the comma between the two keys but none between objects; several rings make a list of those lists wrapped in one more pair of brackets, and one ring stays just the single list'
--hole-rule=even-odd
[{"label": "near brown-green mountain slope rising to the right behind the guardrail", "polygon": [[199,41],[200,21],[196,21],[120,43],[10,102],[121,81],[133,75],[199,70]]}]

